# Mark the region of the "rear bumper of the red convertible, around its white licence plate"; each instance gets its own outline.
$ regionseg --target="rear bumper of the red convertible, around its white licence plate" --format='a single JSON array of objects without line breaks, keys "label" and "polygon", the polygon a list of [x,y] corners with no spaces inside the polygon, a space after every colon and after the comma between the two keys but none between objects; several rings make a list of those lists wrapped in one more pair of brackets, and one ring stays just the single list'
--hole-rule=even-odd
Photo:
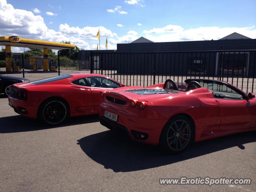
[{"label": "rear bumper of the red convertible, around its white licence plate", "polygon": [[[167,120],[136,118],[117,110],[111,110],[111,108],[111,106],[110,108],[100,107],[100,123],[103,126],[106,126],[109,129],[114,128],[125,130],[132,140],[153,145],[157,145],[159,143],[162,128],[166,124]],[[104,117],[105,110],[118,115],[118,121],[114,122],[106,119]],[[143,138],[138,138],[138,134],[141,134]]]}]

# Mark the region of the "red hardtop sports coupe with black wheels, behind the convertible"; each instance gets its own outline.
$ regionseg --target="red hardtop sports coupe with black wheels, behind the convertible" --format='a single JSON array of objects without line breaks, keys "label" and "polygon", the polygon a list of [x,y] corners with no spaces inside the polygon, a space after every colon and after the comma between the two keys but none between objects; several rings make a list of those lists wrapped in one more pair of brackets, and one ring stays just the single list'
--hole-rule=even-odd
[{"label": "red hardtop sports coupe with black wheels, behind the convertible", "polygon": [[100,92],[122,86],[104,75],[66,74],[14,84],[8,100],[15,112],[56,125],[69,116],[98,114]]}]

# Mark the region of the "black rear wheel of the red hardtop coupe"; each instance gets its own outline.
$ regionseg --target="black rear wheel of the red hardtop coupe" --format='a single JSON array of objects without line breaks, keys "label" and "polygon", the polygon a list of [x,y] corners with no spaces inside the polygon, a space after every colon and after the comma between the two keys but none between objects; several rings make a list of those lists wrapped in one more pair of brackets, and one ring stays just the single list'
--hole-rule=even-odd
[{"label": "black rear wheel of the red hardtop coupe", "polygon": [[69,116],[69,106],[60,98],[50,98],[38,109],[38,119],[50,126],[62,124]]}]

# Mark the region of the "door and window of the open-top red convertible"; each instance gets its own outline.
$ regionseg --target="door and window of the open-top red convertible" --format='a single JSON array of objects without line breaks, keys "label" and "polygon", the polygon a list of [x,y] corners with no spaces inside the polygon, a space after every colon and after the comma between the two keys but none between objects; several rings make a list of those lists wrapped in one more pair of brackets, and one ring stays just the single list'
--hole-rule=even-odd
[{"label": "door and window of the open-top red convertible", "polygon": [[225,85],[219,85],[217,93],[218,96],[221,95],[220,98],[215,98],[220,105],[220,130],[238,130],[255,126],[255,102],[246,100],[236,90],[231,90]]}]

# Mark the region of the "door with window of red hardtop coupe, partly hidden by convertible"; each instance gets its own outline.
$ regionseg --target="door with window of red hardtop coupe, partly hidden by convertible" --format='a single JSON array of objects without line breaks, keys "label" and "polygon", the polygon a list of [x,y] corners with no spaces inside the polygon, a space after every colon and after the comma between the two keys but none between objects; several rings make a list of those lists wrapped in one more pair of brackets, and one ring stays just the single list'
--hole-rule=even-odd
[{"label": "door with window of red hardtop coupe, partly hidden by convertible", "polygon": [[100,92],[106,92],[112,90],[113,88],[121,87],[120,84],[106,77],[87,77],[86,80],[90,83],[92,98],[96,110],[98,110],[100,105]]}]

